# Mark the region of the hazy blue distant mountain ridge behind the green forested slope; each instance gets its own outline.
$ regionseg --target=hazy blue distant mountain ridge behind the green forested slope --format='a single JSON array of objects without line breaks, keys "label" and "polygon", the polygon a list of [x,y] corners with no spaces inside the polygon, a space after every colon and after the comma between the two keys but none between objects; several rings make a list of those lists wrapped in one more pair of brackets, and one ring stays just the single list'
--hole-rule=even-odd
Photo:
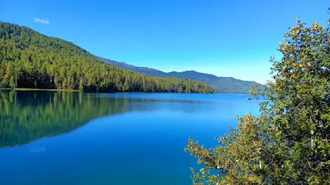
[{"label": "hazy blue distant mountain ridge behind the green forested slope", "polygon": [[259,84],[254,81],[244,81],[235,79],[232,77],[218,77],[212,74],[200,73],[197,71],[183,71],[183,72],[163,72],[157,69],[148,68],[148,67],[137,67],[134,65],[127,64],[125,62],[117,62],[102,57],[96,56],[99,60],[111,63],[121,68],[130,69],[135,72],[145,73],[150,76],[173,76],[177,78],[188,78],[192,80],[198,80],[200,82],[211,85],[218,93],[248,93],[251,89],[252,84],[259,85],[262,87],[262,84]]}]

